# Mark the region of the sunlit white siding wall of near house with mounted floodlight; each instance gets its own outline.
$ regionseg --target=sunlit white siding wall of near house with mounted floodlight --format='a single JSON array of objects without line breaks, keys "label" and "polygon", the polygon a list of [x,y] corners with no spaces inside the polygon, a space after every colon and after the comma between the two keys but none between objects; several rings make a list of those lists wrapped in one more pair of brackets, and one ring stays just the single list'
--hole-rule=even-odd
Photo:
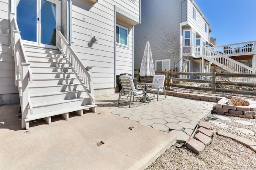
[{"label": "sunlit white siding wall of near house with mounted floodlight", "polygon": [[[139,18],[140,3],[130,0],[100,0],[95,4],[87,1],[72,2],[72,41],[74,50],[84,65],[92,66],[94,89],[114,88],[114,71],[132,73],[132,26],[116,21],[129,28],[129,47],[116,46],[116,66],[114,63],[114,6]],[[91,36],[100,40],[90,43]]]}]

